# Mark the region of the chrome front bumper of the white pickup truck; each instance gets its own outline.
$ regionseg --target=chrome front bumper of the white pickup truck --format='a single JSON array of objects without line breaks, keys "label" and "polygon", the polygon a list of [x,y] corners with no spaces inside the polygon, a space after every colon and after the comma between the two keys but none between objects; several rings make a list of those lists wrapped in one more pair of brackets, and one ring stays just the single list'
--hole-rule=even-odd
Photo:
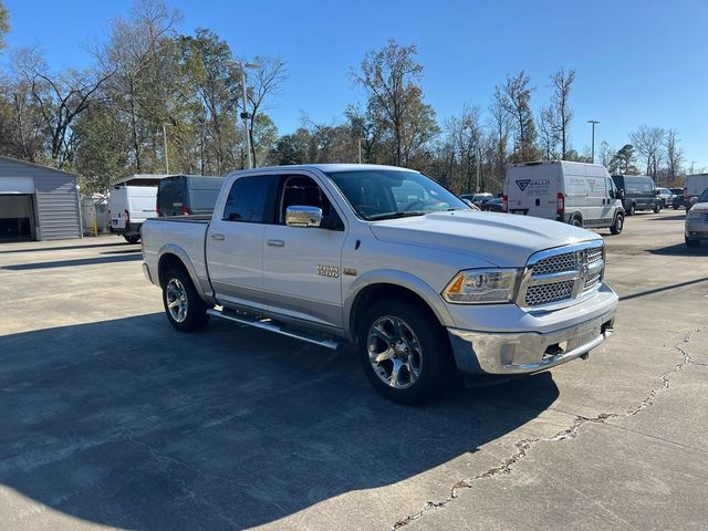
[{"label": "chrome front bumper of the white pickup truck", "polygon": [[528,374],[586,355],[613,334],[615,309],[584,323],[545,334],[447,329],[464,375]]}]

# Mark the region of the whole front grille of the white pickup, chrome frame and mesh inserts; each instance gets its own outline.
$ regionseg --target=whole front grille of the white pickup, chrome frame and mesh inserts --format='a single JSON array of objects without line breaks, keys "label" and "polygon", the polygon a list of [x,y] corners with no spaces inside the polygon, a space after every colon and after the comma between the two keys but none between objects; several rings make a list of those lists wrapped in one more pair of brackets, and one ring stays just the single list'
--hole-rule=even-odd
[{"label": "whole front grille of the white pickup, chrome frame and mesh inserts", "polygon": [[590,296],[602,283],[603,246],[603,242],[583,242],[532,256],[519,291],[519,304],[558,306]]}]

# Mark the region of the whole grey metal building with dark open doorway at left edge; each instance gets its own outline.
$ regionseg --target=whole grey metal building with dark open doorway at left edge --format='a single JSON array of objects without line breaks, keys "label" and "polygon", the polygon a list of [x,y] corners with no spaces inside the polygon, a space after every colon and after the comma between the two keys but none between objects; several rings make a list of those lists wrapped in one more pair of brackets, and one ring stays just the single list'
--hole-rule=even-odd
[{"label": "whole grey metal building with dark open doorway at left edge", "polygon": [[0,242],[81,238],[76,178],[0,155]]}]

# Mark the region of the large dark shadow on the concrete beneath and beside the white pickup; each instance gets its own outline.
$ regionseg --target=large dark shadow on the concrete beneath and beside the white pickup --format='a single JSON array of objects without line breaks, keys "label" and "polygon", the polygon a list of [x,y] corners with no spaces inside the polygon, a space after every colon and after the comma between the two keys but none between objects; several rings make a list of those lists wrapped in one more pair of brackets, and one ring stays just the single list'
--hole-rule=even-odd
[{"label": "large dark shadow on the concrete beneath and beside the white pickup", "polygon": [[543,373],[404,407],[348,354],[162,314],[0,337],[0,483],[104,525],[240,529],[473,452],[559,394]]}]

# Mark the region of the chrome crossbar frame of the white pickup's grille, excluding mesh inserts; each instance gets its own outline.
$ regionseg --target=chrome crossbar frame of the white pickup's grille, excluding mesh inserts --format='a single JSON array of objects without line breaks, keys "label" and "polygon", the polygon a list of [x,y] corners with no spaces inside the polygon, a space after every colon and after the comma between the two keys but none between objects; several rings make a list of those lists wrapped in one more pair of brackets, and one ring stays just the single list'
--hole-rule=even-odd
[{"label": "chrome crossbar frame of the white pickup's grille, excluding mesh inserts", "polygon": [[[571,252],[586,251],[589,249],[602,249],[602,258],[594,262],[586,263],[585,274],[581,274],[581,270],[575,268],[572,271],[560,271],[556,273],[543,273],[533,275],[533,266],[560,254],[566,254]],[[533,253],[527,261],[525,268],[521,272],[521,281],[517,291],[517,304],[522,310],[530,312],[548,312],[553,310],[560,310],[562,308],[572,306],[579,304],[584,300],[593,296],[603,283],[604,280],[604,264],[605,264],[605,242],[603,240],[587,240],[579,243],[571,243],[569,246],[554,247],[552,249],[545,249]],[[600,269],[600,279],[592,288],[585,290],[585,279],[589,274],[596,272]],[[527,292],[532,285],[552,284],[555,282],[573,282],[573,291],[570,299],[552,302],[548,304],[529,305],[527,304]]]}]

